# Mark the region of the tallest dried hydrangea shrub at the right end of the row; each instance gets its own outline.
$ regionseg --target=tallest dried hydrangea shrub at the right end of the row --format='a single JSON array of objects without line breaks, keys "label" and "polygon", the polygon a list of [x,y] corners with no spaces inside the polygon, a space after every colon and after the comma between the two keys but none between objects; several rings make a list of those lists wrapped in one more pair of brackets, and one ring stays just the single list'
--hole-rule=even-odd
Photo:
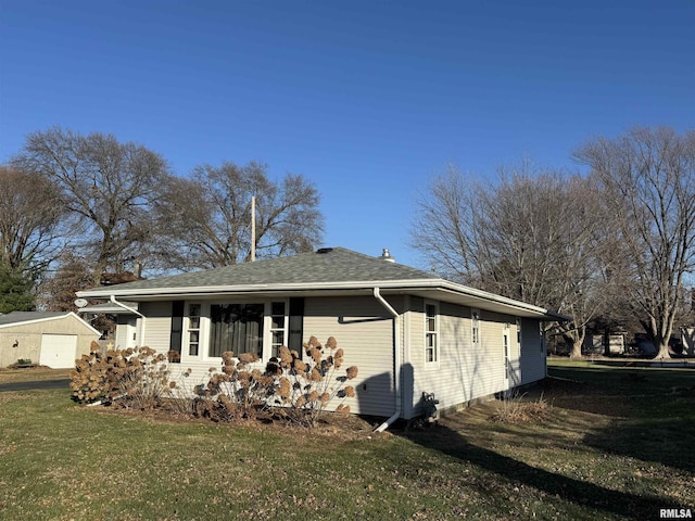
[{"label": "tallest dried hydrangea shrub at the right end of the row", "polygon": [[[280,347],[279,356],[266,367],[266,373],[275,377],[275,403],[277,412],[291,422],[314,427],[320,415],[334,398],[344,401],[355,396],[355,390],[345,385],[357,376],[357,367],[351,366],[344,374],[339,372],[344,352],[330,336],[323,345],[316,336],[304,344],[306,357],[296,351]],[[349,414],[350,406],[342,402],[336,407],[340,414]]]}]

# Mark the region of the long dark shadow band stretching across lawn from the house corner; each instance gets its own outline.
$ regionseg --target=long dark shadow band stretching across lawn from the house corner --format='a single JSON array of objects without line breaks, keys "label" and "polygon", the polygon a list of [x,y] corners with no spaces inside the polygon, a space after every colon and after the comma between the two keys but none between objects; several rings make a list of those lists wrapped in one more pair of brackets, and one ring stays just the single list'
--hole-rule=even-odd
[{"label": "long dark shadow band stretching across lawn from the house corner", "polygon": [[593,483],[535,468],[523,461],[468,443],[458,432],[438,425],[424,431],[401,432],[420,446],[437,449],[464,462],[478,466],[509,480],[533,487],[551,496],[605,513],[633,519],[654,519],[668,500],[658,496],[639,496],[612,491]]}]

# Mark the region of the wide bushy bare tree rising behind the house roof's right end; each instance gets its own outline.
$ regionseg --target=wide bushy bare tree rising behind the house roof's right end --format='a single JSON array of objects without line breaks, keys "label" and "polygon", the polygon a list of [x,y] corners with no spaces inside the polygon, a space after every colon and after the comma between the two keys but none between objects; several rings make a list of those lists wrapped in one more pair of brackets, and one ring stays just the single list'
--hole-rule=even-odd
[{"label": "wide bushy bare tree rising behind the house roof's right end", "polygon": [[418,202],[414,244],[444,275],[572,317],[563,325],[581,356],[602,302],[594,187],[558,173],[502,173],[494,186],[456,169]]}]

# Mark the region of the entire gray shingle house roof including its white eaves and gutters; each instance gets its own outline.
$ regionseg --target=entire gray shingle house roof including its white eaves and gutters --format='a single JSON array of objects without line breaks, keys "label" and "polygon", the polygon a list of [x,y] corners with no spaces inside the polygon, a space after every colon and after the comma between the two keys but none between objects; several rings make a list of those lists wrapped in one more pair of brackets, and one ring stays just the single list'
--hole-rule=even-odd
[{"label": "entire gray shingle house roof including its white eaves and gutters", "polygon": [[547,313],[530,304],[464,287],[427,271],[344,247],[321,249],[289,257],[92,288],[77,294],[88,298],[118,296],[138,301],[148,297],[170,298],[186,294],[344,291],[346,289],[364,291],[376,287],[399,291],[408,288],[414,292],[419,291],[420,295],[427,297],[448,300],[460,305],[498,313],[514,313],[517,316],[539,317]]}]

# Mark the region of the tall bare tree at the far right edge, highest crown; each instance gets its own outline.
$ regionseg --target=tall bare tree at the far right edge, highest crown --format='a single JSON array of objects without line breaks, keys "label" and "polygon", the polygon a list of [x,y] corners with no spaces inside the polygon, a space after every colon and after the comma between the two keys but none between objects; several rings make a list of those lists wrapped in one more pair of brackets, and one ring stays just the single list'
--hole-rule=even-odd
[{"label": "tall bare tree at the far right edge, highest crown", "polygon": [[630,264],[626,280],[644,327],[668,357],[668,342],[695,260],[695,131],[635,128],[576,152],[601,181]]}]

